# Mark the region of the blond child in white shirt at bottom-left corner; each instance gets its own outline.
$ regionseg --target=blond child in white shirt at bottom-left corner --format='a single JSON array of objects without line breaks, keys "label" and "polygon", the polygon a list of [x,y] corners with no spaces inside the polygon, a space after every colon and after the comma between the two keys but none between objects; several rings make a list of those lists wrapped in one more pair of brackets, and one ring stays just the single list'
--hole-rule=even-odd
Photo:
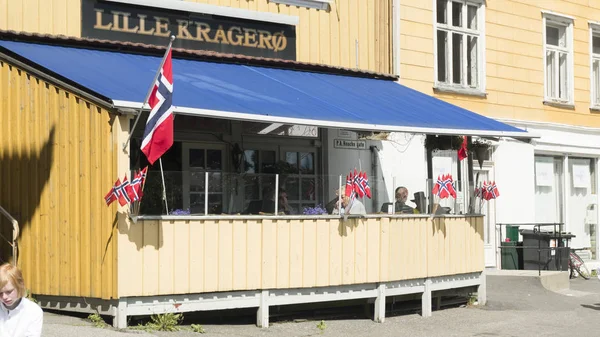
[{"label": "blond child in white shirt at bottom-left corner", "polygon": [[19,268],[0,266],[0,337],[39,337],[44,313],[25,297],[25,282]]}]

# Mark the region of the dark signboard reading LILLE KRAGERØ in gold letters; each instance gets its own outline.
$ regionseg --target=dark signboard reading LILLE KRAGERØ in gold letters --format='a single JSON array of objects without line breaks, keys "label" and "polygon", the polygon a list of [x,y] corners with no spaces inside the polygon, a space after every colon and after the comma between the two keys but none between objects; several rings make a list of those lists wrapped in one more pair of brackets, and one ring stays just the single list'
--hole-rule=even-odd
[{"label": "dark signboard reading LILLE KRAGER\u00d8 in gold letters", "polygon": [[166,46],[175,35],[175,48],[296,60],[293,25],[102,0],[83,0],[81,18],[81,37]]}]

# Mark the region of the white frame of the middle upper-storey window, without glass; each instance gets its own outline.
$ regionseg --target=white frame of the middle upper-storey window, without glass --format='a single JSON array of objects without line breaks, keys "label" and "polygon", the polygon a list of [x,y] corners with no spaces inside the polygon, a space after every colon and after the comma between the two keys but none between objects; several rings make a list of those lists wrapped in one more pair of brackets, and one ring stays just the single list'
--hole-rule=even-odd
[{"label": "white frame of the middle upper-storey window, without glass", "polygon": [[[573,61],[573,22],[574,18],[568,15],[557,14],[550,11],[542,11],[542,38],[544,43],[542,60],[544,62],[544,104],[549,105],[558,105],[565,107],[574,107],[575,105],[575,88],[574,88],[574,61]],[[546,27],[554,26],[554,27],[564,27],[566,33],[566,48],[551,46],[548,47],[546,44]],[[557,97],[548,96],[548,71],[546,65],[546,55],[548,51],[558,51],[558,52],[566,52],[568,60],[567,60],[567,83],[568,86],[567,99],[560,99]],[[560,71],[560,58],[556,62],[556,67],[558,67],[557,72]],[[557,73],[558,76],[558,73]],[[560,82],[556,82],[557,88],[555,88],[556,92],[558,92],[558,87],[560,86]]]}]

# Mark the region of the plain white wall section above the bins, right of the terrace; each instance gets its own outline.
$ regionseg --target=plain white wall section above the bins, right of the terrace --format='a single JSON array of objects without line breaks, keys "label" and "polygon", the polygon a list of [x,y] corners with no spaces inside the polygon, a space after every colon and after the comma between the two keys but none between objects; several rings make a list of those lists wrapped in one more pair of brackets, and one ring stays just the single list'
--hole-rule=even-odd
[{"label": "plain white wall section above the bins, right of the terrace", "polygon": [[535,221],[534,151],[531,144],[503,140],[494,151],[496,223]]}]

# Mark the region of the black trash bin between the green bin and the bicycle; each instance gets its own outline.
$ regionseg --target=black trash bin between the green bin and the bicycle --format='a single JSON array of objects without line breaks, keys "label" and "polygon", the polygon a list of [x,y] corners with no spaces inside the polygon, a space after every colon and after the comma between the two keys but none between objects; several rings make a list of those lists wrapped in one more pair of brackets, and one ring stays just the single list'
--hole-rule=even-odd
[{"label": "black trash bin between the green bin and the bicycle", "polygon": [[[568,240],[573,234],[523,229],[523,269],[526,270],[569,270]],[[539,252],[538,252],[539,247]],[[548,249],[556,247],[556,249]]]}]

